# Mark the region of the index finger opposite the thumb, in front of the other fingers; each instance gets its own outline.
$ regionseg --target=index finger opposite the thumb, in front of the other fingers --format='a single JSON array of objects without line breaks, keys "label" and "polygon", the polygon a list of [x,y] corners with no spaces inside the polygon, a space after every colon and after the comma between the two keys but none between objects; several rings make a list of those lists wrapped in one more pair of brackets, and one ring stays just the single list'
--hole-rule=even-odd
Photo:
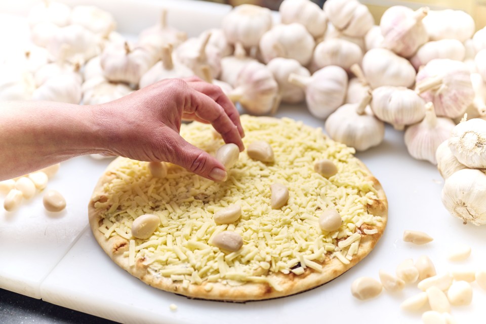
[{"label": "index finger opposite the thumb, in front of the other fingers", "polygon": [[186,102],[184,108],[185,113],[194,113],[198,118],[209,121],[225,143],[238,145],[240,151],[245,149],[238,129],[218,103],[196,90],[190,92],[189,99],[190,102]]}]

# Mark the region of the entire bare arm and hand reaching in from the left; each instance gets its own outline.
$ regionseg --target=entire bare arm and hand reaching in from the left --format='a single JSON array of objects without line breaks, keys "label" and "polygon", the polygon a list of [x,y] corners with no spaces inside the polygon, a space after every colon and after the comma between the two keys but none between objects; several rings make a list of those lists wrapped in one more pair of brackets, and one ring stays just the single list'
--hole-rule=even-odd
[{"label": "entire bare arm and hand reaching in from the left", "polygon": [[101,105],[0,102],[0,180],[102,153],[166,161],[221,181],[224,166],[179,135],[183,119],[210,123],[226,143],[244,149],[236,108],[219,87],[198,78],[163,80]]}]

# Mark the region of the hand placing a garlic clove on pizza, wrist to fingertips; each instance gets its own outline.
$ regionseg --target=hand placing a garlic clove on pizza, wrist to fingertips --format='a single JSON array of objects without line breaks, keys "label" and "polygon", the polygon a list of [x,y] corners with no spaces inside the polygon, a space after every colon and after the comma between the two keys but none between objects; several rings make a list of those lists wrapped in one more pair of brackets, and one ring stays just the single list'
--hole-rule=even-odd
[{"label": "hand placing a garlic clove on pizza, wrist to fingertips", "polygon": [[199,78],[167,79],[94,107],[104,154],[142,161],[166,161],[221,181],[224,166],[180,135],[182,119],[210,123],[226,143],[244,150],[239,114],[221,88]]}]

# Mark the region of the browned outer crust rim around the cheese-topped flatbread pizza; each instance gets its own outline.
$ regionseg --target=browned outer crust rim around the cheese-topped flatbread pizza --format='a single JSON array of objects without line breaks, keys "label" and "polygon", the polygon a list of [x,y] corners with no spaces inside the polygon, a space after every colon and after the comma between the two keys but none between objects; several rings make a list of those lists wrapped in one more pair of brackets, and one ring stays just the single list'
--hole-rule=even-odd
[{"label": "browned outer crust rim around the cheese-topped flatbread pizza", "polygon": [[[249,118],[254,119],[258,117]],[[264,118],[268,117],[259,118],[264,120]],[[246,120],[246,117],[242,118],[243,122]],[[248,134],[247,130],[246,133]],[[242,152],[240,153],[240,156],[241,154],[246,153]],[[353,158],[356,159],[355,157]],[[362,224],[361,226],[356,227],[356,232],[361,234],[359,249],[357,253],[353,255],[352,259],[349,260],[348,264],[343,263],[338,258],[333,257],[332,254],[328,253],[322,262],[315,261],[322,265],[321,272],[306,267],[304,273],[299,275],[294,274],[293,272],[288,274],[274,272],[269,274],[269,276],[272,276],[277,280],[278,285],[281,288],[279,290],[274,289],[267,282],[254,281],[241,282],[240,285],[228,285],[223,282],[209,282],[204,280],[199,285],[190,284],[188,287],[183,287],[181,281],[173,281],[170,276],[160,276],[153,273],[153,271],[150,271],[149,266],[145,264],[146,259],[144,257],[137,258],[135,264],[130,266],[129,258],[126,256],[129,251],[129,240],[120,235],[112,235],[109,238],[106,238],[104,233],[99,230],[100,226],[103,224],[104,214],[109,207],[100,209],[96,208],[95,204],[97,202],[103,203],[108,199],[108,194],[104,192],[104,185],[110,183],[110,181],[117,177],[115,171],[119,166],[123,165],[126,160],[128,159],[122,157],[113,160],[94,189],[88,207],[89,222],[93,234],[105,253],[121,268],[152,287],[184,295],[189,298],[245,302],[290,296],[316,288],[335,279],[365,258],[377,244],[387,223],[388,203],[385,192],[380,182],[371,174],[368,168],[361,161],[356,159],[358,165],[362,169],[361,171],[367,175],[366,179],[371,180],[373,182],[373,187],[376,189],[376,197],[372,200],[371,204],[366,206],[367,211],[369,214],[379,216],[380,221],[374,225]],[[365,229],[376,229],[377,232],[373,234],[365,234]],[[339,241],[339,239],[337,241]],[[208,285],[211,285],[211,289],[208,289]]]}]

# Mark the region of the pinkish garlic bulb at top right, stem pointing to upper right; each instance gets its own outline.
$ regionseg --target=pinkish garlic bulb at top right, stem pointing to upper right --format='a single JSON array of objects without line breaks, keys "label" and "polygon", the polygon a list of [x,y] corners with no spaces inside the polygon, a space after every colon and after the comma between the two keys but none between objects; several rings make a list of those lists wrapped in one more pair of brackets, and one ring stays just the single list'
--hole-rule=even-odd
[{"label": "pinkish garlic bulb at top right, stem pointing to upper right", "polygon": [[388,8],[381,17],[382,46],[403,57],[411,57],[429,38],[422,19],[428,8],[413,11],[403,6]]}]

